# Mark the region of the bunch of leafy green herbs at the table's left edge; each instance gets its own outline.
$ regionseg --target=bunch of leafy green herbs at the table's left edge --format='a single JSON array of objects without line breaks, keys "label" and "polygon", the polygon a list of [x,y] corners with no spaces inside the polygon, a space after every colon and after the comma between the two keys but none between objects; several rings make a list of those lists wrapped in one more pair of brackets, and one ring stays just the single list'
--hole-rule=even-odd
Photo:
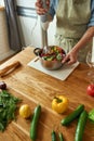
[{"label": "bunch of leafy green herbs at the table's left edge", "polygon": [[4,131],[8,124],[15,119],[18,98],[13,97],[6,90],[0,91],[0,131]]}]

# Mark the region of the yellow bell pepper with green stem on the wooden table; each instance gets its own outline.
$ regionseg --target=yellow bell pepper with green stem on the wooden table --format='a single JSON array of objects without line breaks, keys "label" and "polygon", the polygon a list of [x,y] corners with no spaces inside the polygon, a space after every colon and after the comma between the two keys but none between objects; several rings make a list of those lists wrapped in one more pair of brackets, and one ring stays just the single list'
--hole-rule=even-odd
[{"label": "yellow bell pepper with green stem on the wooden table", "polygon": [[52,110],[62,114],[68,108],[68,99],[64,95],[57,95],[52,101]]}]

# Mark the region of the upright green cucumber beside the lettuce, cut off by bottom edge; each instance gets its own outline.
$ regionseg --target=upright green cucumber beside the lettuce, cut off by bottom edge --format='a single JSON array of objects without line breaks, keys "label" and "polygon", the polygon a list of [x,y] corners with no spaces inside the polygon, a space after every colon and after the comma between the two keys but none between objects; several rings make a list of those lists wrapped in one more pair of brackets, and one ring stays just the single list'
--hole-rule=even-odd
[{"label": "upright green cucumber beside the lettuce, cut off by bottom edge", "polygon": [[88,113],[86,113],[86,111],[83,111],[78,120],[75,141],[82,141],[86,119],[88,119]]}]

